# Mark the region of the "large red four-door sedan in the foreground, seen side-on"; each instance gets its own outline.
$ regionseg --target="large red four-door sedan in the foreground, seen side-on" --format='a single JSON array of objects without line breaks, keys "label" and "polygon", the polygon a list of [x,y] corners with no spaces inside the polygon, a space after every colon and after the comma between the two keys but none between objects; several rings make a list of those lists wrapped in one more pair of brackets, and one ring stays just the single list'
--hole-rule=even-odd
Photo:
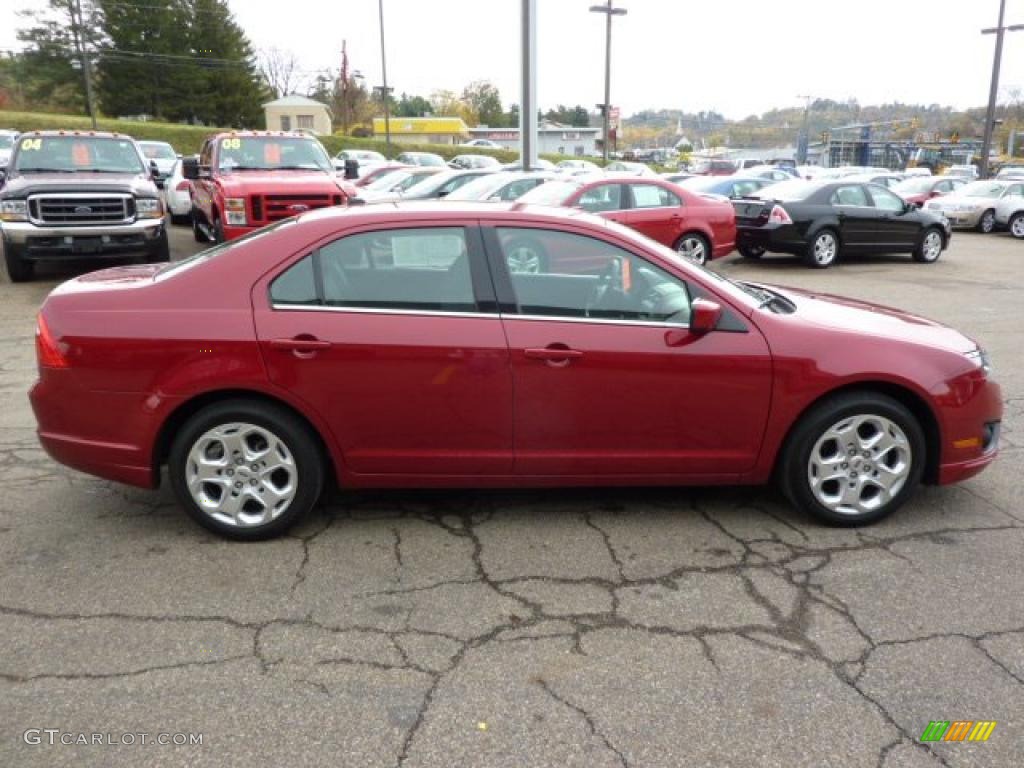
[{"label": "large red four-door sedan in the foreground, seen side-on", "polygon": [[[553,183],[553,182],[552,182]],[[542,271],[510,268],[524,243]],[[976,343],[733,283],[580,211],[325,209],[39,312],[39,438],[222,535],[342,488],[764,483],[844,525],[995,457]]]}]

